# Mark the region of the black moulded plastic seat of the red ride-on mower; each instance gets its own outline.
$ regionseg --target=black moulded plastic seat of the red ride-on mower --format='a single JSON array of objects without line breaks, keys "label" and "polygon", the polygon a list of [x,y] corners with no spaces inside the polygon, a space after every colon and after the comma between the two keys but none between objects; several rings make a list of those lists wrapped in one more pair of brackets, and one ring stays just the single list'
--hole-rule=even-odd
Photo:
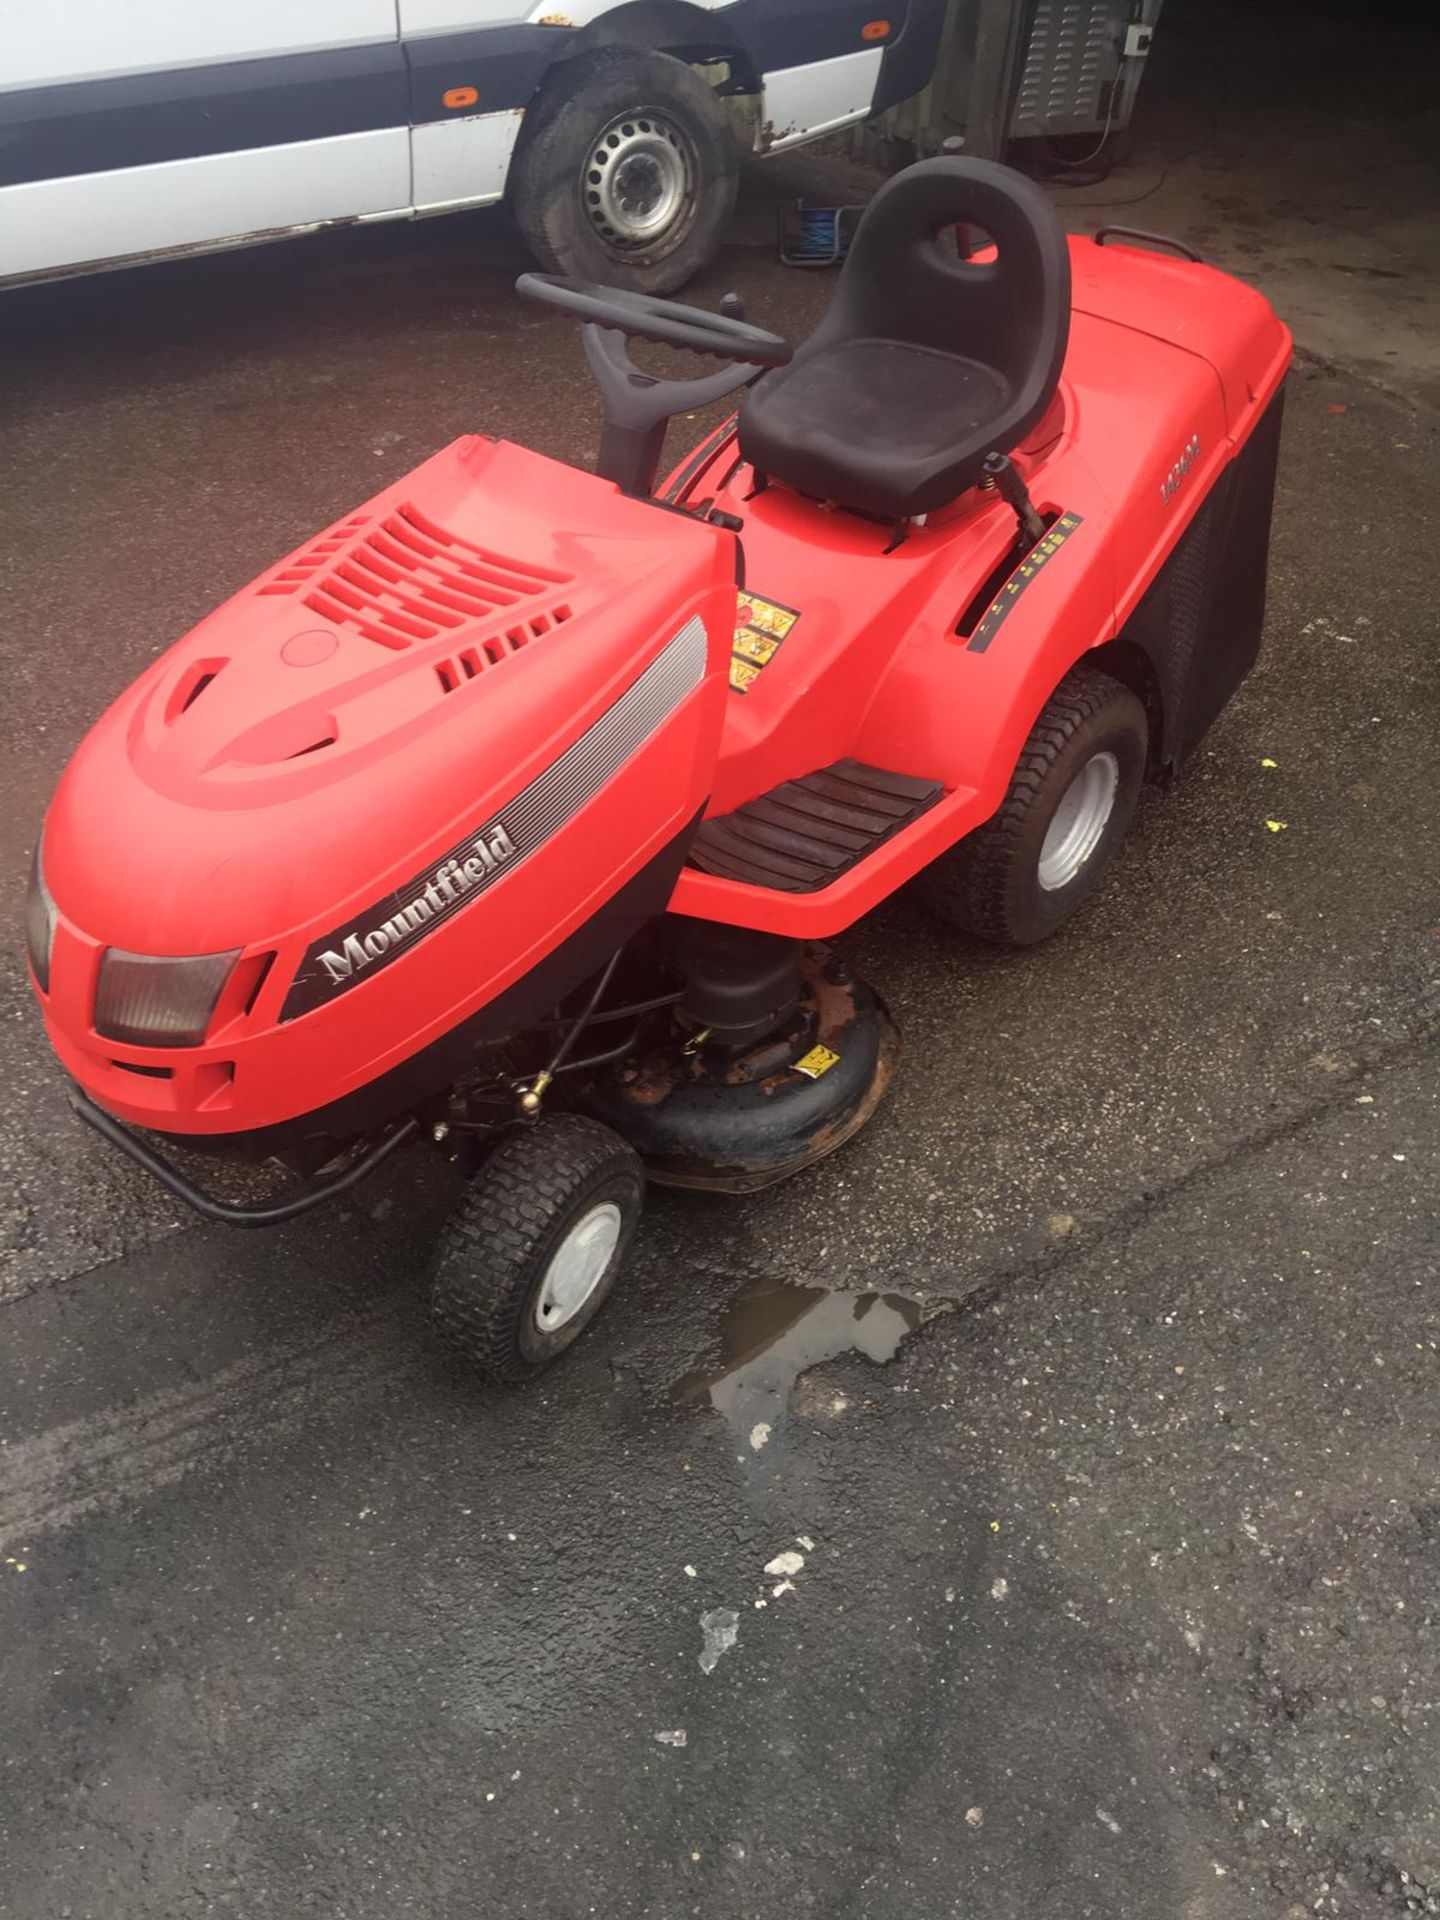
[{"label": "black moulded plastic seat of the red ride-on mower", "polygon": [[[945,250],[960,223],[995,240],[993,261]],[[1044,192],[987,159],[922,159],[866,207],[820,326],[745,396],[739,449],[818,499],[929,513],[1035,426],[1068,334],[1069,252]]]}]

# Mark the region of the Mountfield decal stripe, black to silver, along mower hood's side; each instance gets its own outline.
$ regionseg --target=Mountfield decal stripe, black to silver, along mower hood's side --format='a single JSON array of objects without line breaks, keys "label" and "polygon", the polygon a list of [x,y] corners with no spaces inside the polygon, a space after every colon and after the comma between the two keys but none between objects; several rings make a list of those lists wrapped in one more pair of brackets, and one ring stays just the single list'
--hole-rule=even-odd
[{"label": "Mountfield decal stripe, black to silver, along mower hood's side", "polygon": [[[705,622],[695,614],[639,680],[507,806],[476,822],[449,852],[428,862],[394,893],[313,941],[290,983],[280,1020],[298,1020],[372,979],[503,874],[515,872],[520,860],[538,852],[693,693],[705,678],[707,651]],[[447,868],[474,868],[480,849],[490,849],[484,854],[488,870],[468,879],[463,891],[453,877],[442,879]],[[382,950],[376,952],[376,947]]]}]

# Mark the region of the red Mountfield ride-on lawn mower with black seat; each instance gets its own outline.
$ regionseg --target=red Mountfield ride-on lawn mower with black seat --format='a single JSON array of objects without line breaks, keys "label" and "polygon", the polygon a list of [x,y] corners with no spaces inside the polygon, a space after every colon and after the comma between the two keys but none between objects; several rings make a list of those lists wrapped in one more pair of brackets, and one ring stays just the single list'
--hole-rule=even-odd
[{"label": "red Mountfield ride-on lawn mower with black seat", "polygon": [[[236,1225],[472,1154],[434,1308],[503,1380],[595,1315],[647,1177],[845,1142],[899,1044],[831,935],[916,876],[968,933],[1052,933],[1256,657],[1290,338],[1177,253],[931,159],[795,353],[735,301],[526,275],[586,323],[599,470],[455,442],[69,764],[29,950],[83,1119]],[[655,492],[666,420],[739,388]],[[303,1183],[232,1206],[134,1129]]]}]

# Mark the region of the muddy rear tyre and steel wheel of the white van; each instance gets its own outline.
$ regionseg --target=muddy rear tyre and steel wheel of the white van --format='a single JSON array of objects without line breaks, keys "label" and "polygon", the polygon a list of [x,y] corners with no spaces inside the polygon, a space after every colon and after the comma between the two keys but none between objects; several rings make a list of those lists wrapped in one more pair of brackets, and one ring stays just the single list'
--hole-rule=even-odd
[{"label": "muddy rear tyre and steel wheel of the white van", "polygon": [[511,205],[551,273],[670,294],[735,205],[730,117],[682,60],[607,46],[555,67],[520,129]]}]

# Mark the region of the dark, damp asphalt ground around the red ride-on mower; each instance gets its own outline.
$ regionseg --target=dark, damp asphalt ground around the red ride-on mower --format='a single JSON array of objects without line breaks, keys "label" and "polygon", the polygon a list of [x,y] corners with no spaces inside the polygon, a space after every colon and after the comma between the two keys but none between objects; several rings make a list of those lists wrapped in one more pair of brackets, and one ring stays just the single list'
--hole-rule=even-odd
[{"label": "dark, damp asphalt ground around the red ride-on mower", "polygon": [[[695,292],[801,332],[762,213]],[[488,217],[4,303],[6,925],[217,599],[457,432],[591,455],[518,265]],[[1261,666],[1104,897],[1018,960],[854,929],[881,1116],[660,1196],[524,1394],[426,1336],[449,1169],[177,1219],[6,935],[0,1914],[1440,1912],[1438,482],[1302,359]],[[924,1323],[881,1363],[899,1309],[797,1284]]]}]

